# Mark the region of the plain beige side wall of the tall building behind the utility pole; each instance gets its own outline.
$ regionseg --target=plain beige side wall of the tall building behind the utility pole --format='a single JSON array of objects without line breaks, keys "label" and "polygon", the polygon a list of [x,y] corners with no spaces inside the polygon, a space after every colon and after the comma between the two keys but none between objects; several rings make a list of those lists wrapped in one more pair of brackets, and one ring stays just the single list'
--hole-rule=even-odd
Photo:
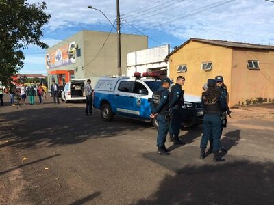
[{"label": "plain beige side wall of the tall building behind the utility pole", "polygon": [[[84,31],[84,65],[82,70],[86,77],[116,75],[117,70],[117,35],[98,31]],[[101,46],[105,42],[103,49]],[[121,34],[122,74],[127,74],[127,53],[147,49],[147,36]],[[98,51],[101,49],[99,55]]]}]

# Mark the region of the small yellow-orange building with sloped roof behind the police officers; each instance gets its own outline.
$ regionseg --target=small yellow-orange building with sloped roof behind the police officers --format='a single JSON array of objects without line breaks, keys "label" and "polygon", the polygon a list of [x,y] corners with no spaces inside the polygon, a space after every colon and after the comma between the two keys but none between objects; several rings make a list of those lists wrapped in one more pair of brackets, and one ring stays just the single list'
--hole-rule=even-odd
[{"label": "small yellow-orange building with sloped roof behind the police officers", "polygon": [[190,38],[168,55],[170,75],[186,78],[186,93],[201,95],[221,75],[229,105],[274,102],[274,46]]}]

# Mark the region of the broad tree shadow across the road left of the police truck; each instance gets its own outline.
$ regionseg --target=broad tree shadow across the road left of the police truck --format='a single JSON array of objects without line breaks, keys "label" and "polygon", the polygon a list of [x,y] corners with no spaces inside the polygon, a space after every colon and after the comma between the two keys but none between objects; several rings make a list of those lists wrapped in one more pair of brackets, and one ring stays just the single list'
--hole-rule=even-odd
[{"label": "broad tree shadow across the road left of the police truck", "polygon": [[9,140],[0,144],[0,148],[7,145],[15,148],[64,146],[97,137],[125,135],[126,131],[142,131],[151,126],[115,118],[112,122],[103,122],[98,111],[95,115],[84,115],[82,107],[24,109],[2,113],[0,119],[0,141]]}]

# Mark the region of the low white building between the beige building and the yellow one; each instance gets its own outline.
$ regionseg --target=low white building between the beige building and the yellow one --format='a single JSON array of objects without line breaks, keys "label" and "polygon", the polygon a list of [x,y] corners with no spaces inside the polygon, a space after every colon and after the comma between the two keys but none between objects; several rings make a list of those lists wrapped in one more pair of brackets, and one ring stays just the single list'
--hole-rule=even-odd
[{"label": "low white building between the beige building and the yellow one", "polygon": [[161,77],[169,77],[169,44],[127,53],[127,76],[133,77],[134,72],[153,72]]}]

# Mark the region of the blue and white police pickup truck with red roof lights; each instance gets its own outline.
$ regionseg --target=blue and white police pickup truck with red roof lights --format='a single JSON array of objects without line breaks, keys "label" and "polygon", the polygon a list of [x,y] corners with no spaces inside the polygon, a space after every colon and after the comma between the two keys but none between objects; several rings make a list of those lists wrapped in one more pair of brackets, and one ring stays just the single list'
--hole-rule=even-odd
[{"label": "blue and white police pickup truck with red roof lights", "polygon": [[[150,101],[161,86],[160,80],[130,79],[129,77],[101,77],[94,89],[93,107],[101,110],[101,118],[111,121],[114,115],[151,122]],[[182,126],[200,124],[203,120],[201,98],[184,94]],[[158,128],[157,120],[153,126]]]}]

